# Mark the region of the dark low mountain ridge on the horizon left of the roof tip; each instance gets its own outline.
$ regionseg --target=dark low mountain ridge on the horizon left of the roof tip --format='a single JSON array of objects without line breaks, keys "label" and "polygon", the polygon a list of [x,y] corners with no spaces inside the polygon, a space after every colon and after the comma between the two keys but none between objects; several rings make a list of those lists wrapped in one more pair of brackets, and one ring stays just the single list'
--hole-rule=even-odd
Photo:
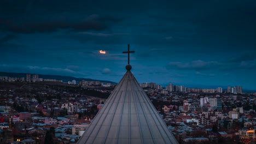
[{"label": "dark low mountain ridge on the horizon left of the roof tip", "polygon": [[[32,75],[36,75],[36,74],[30,74],[31,77]],[[0,72],[0,76],[8,76],[8,77],[25,77],[26,79],[26,73],[7,73],[7,72]],[[75,80],[77,81],[77,83],[79,81],[85,80],[85,81],[100,81],[103,83],[112,83],[112,84],[117,84],[116,82],[113,81],[104,81],[104,80],[94,80],[94,79],[86,79],[86,78],[77,78],[77,77],[73,77],[73,76],[60,76],[60,75],[41,75],[38,74],[39,78],[43,78],[43,79],[56,79],[56,80],[62,80],[63,82],[68,82],[68,81],[72,81]]]}]

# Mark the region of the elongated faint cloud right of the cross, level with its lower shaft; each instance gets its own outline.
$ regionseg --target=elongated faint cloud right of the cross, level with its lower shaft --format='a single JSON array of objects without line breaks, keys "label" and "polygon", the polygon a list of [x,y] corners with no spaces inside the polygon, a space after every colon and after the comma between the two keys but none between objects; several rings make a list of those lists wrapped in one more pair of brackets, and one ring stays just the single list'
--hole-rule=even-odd
[{"label": "elongated faint cloud right of the cross, level with its lower shaft", "polygon": [[191,62],[170,62],[168,64],[168,69],[187,69],[187,70],[203,70],[203,69],[216,69],[219,67],[219,62],[209,61],[205,62],[202,60],[191,61]]}]

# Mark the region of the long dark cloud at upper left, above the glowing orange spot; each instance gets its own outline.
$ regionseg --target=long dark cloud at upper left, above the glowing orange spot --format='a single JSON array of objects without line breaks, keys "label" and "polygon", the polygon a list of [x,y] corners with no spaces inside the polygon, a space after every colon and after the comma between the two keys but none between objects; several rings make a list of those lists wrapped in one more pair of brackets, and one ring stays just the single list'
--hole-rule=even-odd
[{"label": "long dark cloud at upper left, above the glowing orange spot", "polygon": [[[1,18],[1,17],[0,17]],[[118,23],[120,20],[114,17],[103,17],[100,15],[89,15],[85,20],[72,20],[71,17],[66,19],[54,20],[37,20],[37,21],[1,21],[0,25],[5,27],[5,30],[15,33],[49,33],[67,29],[71,31],[104,31],[109,29],[111,23]]]}]

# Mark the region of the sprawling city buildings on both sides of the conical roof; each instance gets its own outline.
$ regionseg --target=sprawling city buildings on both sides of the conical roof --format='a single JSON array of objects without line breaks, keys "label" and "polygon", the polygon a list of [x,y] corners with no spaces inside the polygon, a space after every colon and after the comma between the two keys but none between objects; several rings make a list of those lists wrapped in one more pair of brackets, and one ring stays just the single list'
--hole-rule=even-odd
[{"label": "sprawling city buildings on both sides of the conical roof", "polygon": [[[99,81],[0,76],[3,143],[76,143],[117,86]],[[139,83],[179,143],[255,142],[256,93],[241,86]],[[50,129],[49,129],[50,128]],[[54,129],[55,135],[48,135]],[[50,136],[51,138],[49,138]]]}]

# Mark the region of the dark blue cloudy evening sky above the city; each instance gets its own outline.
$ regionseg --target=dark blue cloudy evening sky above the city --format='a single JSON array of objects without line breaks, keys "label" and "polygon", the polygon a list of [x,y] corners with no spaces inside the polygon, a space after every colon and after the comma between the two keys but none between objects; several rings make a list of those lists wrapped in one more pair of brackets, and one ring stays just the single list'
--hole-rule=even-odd
[{"label": "dark blue cloudy evening sky above the city", "polygon": [[0,71],[119,82],[130,44],[140,83],[256,89],[255,17],[253,0],[2,0]]}]

